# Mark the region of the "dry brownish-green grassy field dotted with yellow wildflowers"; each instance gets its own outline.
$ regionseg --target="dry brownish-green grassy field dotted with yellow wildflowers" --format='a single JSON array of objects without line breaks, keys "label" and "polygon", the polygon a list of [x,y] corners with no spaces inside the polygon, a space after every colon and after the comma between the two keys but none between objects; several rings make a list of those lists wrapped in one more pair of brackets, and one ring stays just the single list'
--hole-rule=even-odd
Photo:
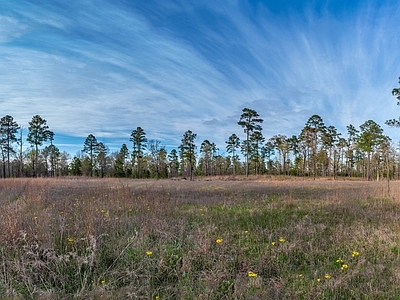
[{"label": "dry brownish-green grassy field dotted with yellow wildflowers", "polygon": [[400,182],[0,181],[1,299],[400,299]]}]

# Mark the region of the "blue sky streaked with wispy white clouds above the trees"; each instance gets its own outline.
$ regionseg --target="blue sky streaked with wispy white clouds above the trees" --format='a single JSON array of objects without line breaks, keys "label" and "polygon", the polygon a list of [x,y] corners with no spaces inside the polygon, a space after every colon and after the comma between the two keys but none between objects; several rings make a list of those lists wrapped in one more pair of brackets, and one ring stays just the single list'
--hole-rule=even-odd
[{"label": "blue sky streaked with wispy white clouds above the trees", "polygon": [[[400,116],[396,0],[0,0],[0,114],[47,120],[75,155],[89,134],[118,151],[132,130],[167,149],[185,131],[223,154],[243,108],[263,135],[322,117],[343,136]],[[29,144],[25,142],[25,146]]]}]

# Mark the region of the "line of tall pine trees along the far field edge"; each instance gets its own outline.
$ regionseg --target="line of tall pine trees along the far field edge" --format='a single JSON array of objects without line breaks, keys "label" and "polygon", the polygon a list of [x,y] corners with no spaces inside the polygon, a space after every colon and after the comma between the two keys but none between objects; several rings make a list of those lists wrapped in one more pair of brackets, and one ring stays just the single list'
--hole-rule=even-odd
[{"label": "line of tall pine trees along the far field edge", "polygon": [[[400,78],[399,78],[400,84]],[[392,94],[400,102],[400,88]],[[398,102],[398,104],[399,104]],[[346,136],[319,115],[311,116],[298,135],[277,134],[266,139],[263,119],[254,109],[244,108],[237,122],[244,131],[241,140],[232,133],[224,152],[208,139],[198,147],[197,134],[187,130],[177,149],[169,152],[161,141],[148,139],[143,128],[130,134],[131,149],[109,148],[89,134],[80,153],[72,159],[53,144],[54,133],[39,115],[29,122],[23,151],[23,128],[12,116],[0,119],[1,177],[97,176],[128,178],[176,178],[212,175],[291,175],[316,178],[338,176],[367,180],[400,178],[400,153],[382,127],[367,120],[358,128],[346,127]],[[400,127],[400,118],[386,121]],[[42,146],[46,143],[46,146]]]}]

